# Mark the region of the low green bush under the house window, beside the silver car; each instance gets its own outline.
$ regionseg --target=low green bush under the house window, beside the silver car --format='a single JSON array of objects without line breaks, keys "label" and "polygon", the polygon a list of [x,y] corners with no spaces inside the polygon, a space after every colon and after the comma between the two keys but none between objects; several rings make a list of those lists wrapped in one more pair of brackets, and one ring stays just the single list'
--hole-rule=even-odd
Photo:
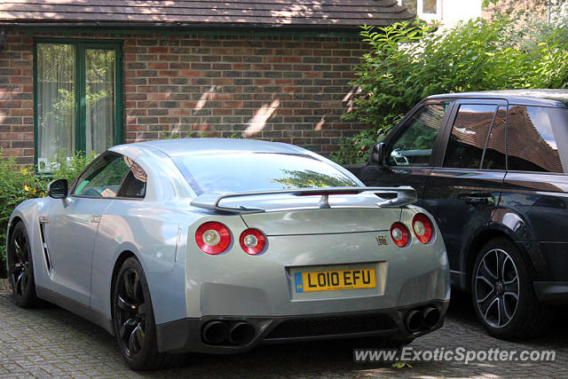
[{"label": "low green bush under the house window, beside the silver car", "polygon": [[56,159],[59,163],[57,169],[49,176],[38,176],[33,167],[21,166],[12,156],[4,156],[0,151],[0,278],[4,276],[6,228],[12,210],[21,201],[44,197],[52,178],[73,181],[93,158],[93,154],[76,154],[69,159],[59,156]]}]

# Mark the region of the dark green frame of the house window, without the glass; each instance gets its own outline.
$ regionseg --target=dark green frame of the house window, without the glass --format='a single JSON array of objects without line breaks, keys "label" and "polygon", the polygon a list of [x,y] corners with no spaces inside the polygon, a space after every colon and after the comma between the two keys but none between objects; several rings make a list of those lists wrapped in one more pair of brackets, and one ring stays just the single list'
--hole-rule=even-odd
[{"label": "dark green frame of the house window, without the glass", "polygon": [[[34,38],[34,162],[38,163],[39,152],[39,91],[38,91],[38,44],[65,44],[75,49],[75,152],[85,152],[87,146],[87,100],[86,100],[86,64],[87,50],[114,51],[114,136],[113,145],[118,145],[124,139],[123,120],[123,66],[122,41],[104,40],[92,41],[88,39],[69,38]],[[99,152],[102,153],[102,152]],[[51,157],[55,158],[55,157]]]}]

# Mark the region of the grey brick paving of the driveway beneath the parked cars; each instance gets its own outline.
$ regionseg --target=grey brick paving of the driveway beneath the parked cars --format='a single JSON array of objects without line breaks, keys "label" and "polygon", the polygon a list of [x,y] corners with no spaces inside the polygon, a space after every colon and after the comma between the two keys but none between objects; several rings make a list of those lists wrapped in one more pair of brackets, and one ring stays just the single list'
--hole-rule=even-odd
[{"label": "grey brick paving of the driveway beneath the parked cars", "polygon": [[[565,312],[565,311],[564,311]],[[33,310],[12,304],[0,290],[0,377],[520,377],[565,376],[568,327],[528,343],[509,343],[487,336],[477,325],[465,296],[456,295],[446,326],[412,343],[415,349],[481,350],[500,348],[556,350],[554,362],[411,362],[394,369],[390,363],[356,364],[352,343],[269,345],[241,355],[193,355],[185,367],[136,373],[122,362],[114,338],[102,328],[55,305]],[[351,347],[350,347],[351,346]]]}]

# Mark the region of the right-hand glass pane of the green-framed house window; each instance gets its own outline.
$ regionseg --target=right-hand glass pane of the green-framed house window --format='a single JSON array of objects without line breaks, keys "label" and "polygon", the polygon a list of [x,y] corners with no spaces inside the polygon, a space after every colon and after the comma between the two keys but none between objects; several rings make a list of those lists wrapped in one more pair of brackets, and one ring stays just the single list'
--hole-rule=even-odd
[{"label": "right-hand glass pane of the green-framed house window", "polygon": [[114,60],[114,50],[85,50],[87,153],[114,145]]}]

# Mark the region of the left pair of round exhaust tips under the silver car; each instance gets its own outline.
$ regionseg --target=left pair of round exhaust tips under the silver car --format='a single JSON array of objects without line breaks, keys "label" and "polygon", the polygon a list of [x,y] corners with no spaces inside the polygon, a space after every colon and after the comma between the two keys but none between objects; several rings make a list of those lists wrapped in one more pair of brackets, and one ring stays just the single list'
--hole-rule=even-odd
[{"label": "left pair of round exhaust tips under the silver car", "polygon": [[203,326],[201,337],[209,344],[244,346],[252,342],[255,334],[255,327],[248,322],[215,320]]}]

